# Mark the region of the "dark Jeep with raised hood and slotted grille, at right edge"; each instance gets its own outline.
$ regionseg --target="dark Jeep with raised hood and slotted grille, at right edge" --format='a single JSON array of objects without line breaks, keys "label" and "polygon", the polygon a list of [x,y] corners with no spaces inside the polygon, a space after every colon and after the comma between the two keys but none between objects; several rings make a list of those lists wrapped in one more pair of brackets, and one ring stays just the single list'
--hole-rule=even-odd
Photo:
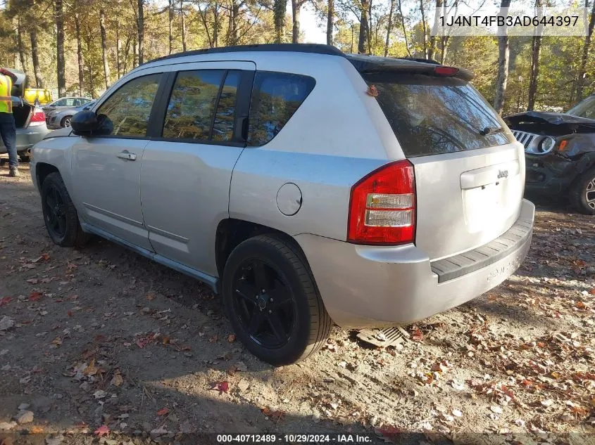
[{"label": "dark Jeep with raised hood and slotted grille, at right edge", "polygon": [[565,113],[527,111],[504,118],[525,146],[529,193],[563,195],[595,214],[595,94]]}]

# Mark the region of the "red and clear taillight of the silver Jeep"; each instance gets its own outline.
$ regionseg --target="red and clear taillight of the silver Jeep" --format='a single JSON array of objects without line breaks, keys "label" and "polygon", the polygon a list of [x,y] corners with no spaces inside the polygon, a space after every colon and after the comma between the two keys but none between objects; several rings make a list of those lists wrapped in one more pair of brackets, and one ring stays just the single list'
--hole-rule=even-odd
[{"label": "red and clear taillight of the silver Jeep", "polygon": [[395,245],[415,238],[415,176],[408,160],[392,162],[351,187],[347,240]]}]

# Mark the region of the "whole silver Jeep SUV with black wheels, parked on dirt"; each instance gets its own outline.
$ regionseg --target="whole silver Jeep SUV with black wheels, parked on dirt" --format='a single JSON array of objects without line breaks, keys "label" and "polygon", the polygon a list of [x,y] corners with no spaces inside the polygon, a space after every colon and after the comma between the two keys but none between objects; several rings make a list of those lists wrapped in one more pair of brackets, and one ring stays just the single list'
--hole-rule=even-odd
[{"label": "whole silver Jeep SUV with black wheels, parked on dirt", "polygon": [[510,276],[532,235],[523,147],[471,77],[325,45],[153,60],[35,146],[47,230],[208,283],[275,365],[333,322],[437,314]]}]

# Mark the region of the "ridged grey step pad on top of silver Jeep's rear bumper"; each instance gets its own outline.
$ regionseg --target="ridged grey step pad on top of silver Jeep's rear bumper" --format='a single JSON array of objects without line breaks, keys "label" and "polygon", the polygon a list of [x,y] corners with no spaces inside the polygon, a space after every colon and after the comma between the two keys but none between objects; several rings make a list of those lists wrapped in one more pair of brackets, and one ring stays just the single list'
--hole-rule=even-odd
[{"label": "ridged grey step pad on top of silver Jeep's rear bumper", "polygon": [[444,283],[494,264],[527,243],[532,228],[531,221],[518,219],[508,231],[487,244],[431,262],[432,272],[437,274],[438,283]]}]

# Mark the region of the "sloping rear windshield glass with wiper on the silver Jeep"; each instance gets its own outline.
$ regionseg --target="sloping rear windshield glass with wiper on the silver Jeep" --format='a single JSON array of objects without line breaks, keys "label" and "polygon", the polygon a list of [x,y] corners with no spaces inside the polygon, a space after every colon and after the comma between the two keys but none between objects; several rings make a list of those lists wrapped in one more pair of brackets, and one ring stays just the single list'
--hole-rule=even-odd
[{"label": "sloping rear windshield glass with wiper on the silver Jeep", "polygon": [[364,77],[376,87],[380,108],[407,157],[477,150],[515,140],[482,95],[461,79],[394,73]]}]

